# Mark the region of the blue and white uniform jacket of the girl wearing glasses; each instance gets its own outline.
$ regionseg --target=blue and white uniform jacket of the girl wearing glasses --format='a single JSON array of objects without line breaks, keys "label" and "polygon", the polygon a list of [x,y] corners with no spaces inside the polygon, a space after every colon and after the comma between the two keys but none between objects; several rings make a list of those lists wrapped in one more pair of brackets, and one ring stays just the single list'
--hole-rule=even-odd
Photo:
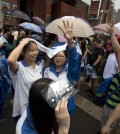
[{"label": "blue and white uniform jacket of the girl wearing glasses", "polygon": [[[77,43],[74,43],[77,45]],[[80,68],[81,68],[81,54],[77,51],[76,46],[69,50],[66,48],[68,53],[67,63],[63,66],[62,71],[57,74],[55,64],[50,65],[44,70],[44,77],[50,78],[54,81],[66,80],[74,84],[80,79]],[[68,102],[68,111],[72,113],[75,109],[74,97]]]}]

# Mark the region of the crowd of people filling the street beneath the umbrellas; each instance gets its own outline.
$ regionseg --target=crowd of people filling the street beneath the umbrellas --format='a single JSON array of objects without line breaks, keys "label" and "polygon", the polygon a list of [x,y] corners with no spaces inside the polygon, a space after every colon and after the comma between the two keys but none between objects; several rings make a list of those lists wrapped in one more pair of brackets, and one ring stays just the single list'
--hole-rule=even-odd
[{"label": "crowd of people filling the street beneath the umbrellas", "polygon": [[[68,134],[70,117],[75,110],[74,96],[68,100],[62,97],[54,109],[42,96],[42,92],[49,89],[53,81],[61,80],[76,88],[80,76],[86,82],[91,82],[87,92],[93,98],[96,88],[112,78],[108,85],[108,95],[112,94],[103,106],[101,133],[109,134],[112,124],[120,117],[120,46],[113,26],[107,28],[109,40],[102,42],[96,35],[89,38],[73,37],[73,24],[63,21],[63,25],[64,28],[59,29],[66,42],[61,42],[55,34],[40,35],[21,27],[14,29],[10,25],[2,28],[0,122],[4,122],[4,105],[12,92],[12,117],[16,124],[16,134]],[[88,69],[92,73],[88,73]],[[51,96],[51,93],[47,92],[47,95]],[[119,125],[117,120],[112,127]]]}]

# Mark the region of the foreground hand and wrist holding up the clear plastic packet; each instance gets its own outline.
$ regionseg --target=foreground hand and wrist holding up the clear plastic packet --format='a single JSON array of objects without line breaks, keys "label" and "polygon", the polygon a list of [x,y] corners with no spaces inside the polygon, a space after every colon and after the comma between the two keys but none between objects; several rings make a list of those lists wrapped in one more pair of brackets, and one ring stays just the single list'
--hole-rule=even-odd
[{"label": "foreground hand and wrist holding up the clear plastic packet", "polygon": [[55,108],[55,116],[59,123],[58,134],[68,134],[70,127],[70,116],[67,110],[67,101],[62,99]]}]

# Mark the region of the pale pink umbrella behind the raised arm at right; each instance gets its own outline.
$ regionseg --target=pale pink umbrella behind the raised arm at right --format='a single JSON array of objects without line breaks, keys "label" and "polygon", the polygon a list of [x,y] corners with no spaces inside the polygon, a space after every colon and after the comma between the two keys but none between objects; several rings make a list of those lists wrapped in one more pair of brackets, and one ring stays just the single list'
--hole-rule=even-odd
[{"label": "pale pink umbrella behind the raised arm at right", "polygon": [[[94,26],[93,30],[95,33],[98,33],[98,34],[106,34],[106,33],[108,33],[106,27],[109,27],[109,25],[108,24],[99,24],[97,26]],[[120,30],[118,28],[114,27],[114,31],[115,31],[116,35],[120,35]]]}]

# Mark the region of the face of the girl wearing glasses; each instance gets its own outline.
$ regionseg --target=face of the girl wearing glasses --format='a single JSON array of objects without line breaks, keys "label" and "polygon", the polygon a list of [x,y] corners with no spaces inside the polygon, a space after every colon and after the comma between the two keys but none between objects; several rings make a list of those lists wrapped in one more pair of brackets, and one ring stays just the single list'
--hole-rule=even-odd
[{"label": "face of the girl wearing glasses", "polygon": [[67,58],[63,51],[59,52],[54,57],[54,63],[56,66],[63,66],[66,63],[66,60],[67,60]]}]

